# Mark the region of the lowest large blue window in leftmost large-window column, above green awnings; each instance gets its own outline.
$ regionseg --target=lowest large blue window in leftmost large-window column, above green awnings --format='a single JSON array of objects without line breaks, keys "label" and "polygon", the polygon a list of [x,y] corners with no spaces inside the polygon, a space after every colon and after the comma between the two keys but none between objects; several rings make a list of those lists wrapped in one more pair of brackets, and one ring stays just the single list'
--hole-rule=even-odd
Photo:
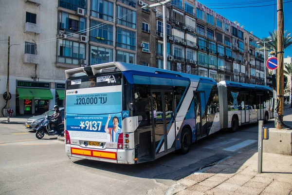
[{"label": "lowest large blue window in leftmost large-window column, above green awnings", "polygon": [[71,40],[59,40],[58,62],[79,64],[79,59],[85,59],[85,44]]}]

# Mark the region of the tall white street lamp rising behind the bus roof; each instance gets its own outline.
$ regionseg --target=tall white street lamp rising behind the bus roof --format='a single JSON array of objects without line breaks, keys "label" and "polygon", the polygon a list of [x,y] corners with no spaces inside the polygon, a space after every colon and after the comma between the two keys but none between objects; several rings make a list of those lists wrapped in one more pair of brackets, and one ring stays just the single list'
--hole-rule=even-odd
[{"label": "tall white street lamp rising behind the bus roof", "polygon": [[166,65],[167,65],[167,56],[166,56],[166,50],[167,50],[167,33],[166,33],[166,5],[165,3],[169,2],[171,0],[164,0],[162,2],[158,2],[158,3],[153,3],[151,5],[144,5],[141,7],[141,9],[143,8],[151,8],[151,7],[157,7],[159,5],[162,5],[163,8],[163,69],[166,70]]}]

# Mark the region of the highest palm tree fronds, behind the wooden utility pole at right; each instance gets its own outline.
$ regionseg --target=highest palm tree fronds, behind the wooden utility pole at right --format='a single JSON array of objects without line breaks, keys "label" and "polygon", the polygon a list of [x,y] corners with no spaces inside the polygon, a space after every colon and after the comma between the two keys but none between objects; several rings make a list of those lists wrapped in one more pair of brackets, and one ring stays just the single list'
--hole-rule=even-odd
[{"label": "highest palm tree fronds, behind the wooden utility pole at right", "polygon": [[[272,40],[272,42],[267,42],[265,43],[266,45],[266,50],[268,51],[275,51],[277,52],[278,49],[278,32],[277,30],[274,30],[273,32],[269,32],[270,36],[267,38],[263,38],[263,41],[269,41]],[[260,44],[262,48],[260,48],[259,50],[264,50],[264,44]],[[283,38],[283,50],[285,50],[287,47],[289,47],[290,45],[292,45],[292,37],[291,37],[291,33],[288,32],[287,30],[284,31],[284,38]]]}]

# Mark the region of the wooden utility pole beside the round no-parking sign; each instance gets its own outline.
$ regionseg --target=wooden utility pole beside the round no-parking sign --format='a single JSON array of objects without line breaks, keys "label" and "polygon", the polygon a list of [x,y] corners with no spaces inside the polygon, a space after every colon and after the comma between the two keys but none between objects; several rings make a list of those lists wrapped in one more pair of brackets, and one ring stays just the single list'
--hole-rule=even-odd
[{"label": "wooden utility pole beside the round no-parking sign", "polygon": [[283,0],[278,0],[277,3],[277,17],[278,17],[278,47],[277,47],[277,59],[278,59],[278,70],[277,70],[277,100],[278,100],[278,114],[276,129],[282,129],[284,115],[284,63],[283,63],[283,37],[284,37],[284,14],[283,14]]}]

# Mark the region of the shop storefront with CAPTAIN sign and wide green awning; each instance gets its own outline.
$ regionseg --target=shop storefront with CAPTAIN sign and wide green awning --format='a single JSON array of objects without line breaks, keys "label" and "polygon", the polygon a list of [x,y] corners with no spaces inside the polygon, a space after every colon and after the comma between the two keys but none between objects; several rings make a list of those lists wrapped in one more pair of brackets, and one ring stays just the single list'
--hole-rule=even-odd
[{"label": "shop storefront with CAPTAIN sign and wide green awning", "polygon": [[50,82],[17,80],[16,93],[18,114],[42,114],[50,109]]}]

